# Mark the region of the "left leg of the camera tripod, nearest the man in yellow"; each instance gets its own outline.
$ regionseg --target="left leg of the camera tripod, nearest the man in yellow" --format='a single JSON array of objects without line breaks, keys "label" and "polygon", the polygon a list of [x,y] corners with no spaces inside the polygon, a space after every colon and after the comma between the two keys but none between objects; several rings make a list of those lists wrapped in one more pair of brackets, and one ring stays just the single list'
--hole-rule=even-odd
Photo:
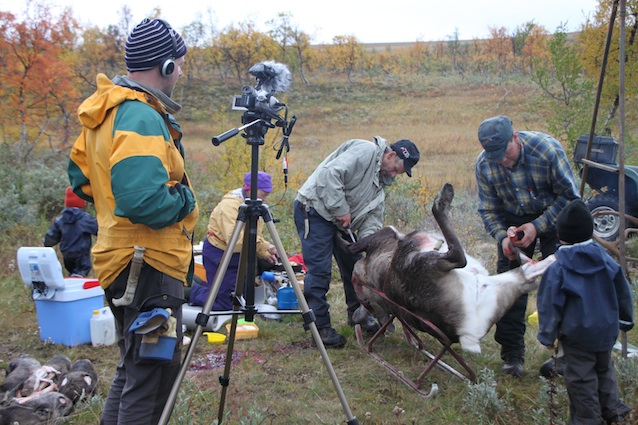
[{"label": "left leg of the camera tripod, nearest the man in yellow", "polygon": [[[219,292],[219,288],[221,287],[222,280],[224,275],[226,274],[226,270],[228,270],[228,264],[230,264],[230,258],[233,255],[233,250],[237,245],[237,241],[239,240],[239,236],[241,235],[242,230],[244,229],[245,223],[241,220],[238,220],[235,224],[235,228],[233,229],[233,233],[230,237],[230,241],[228,242],[228,248],[222,255],[221,264],[219,265],[219,269],[217,269],[217,273],[215,274],[215,279],[210,288],[210,292],[208,293],[208,297],[206,298],[206,302],[204,303],[204,307],[202,307],[202,312],[196,319],[197,327],[193,332],[193,340],[188,346],[186,350],[186,355],[184,356],[184,361],[182,362],[182,367],[177,375],[175,383],[173,384],[173,388],[171,389],[171,393],[168,396],[168,400],[166,401],[166,406],[164,406],[164,410],[162,411],[162,416],[159,420],[159,425],[166,425],[168,420],[171,417],[171,413],[173,412],[173,408],[175,407],[175,402],[177,400],[177,395],[179,392],[179,387],[184,380],[184,376],[186,376],[186,372],[188,370],[188,366],[191,363],[193,358],[193,354],[195,352],[195,347],[197,346],[197,342],[199,341],[199,337],[202,335],[204,328],[207,324],[207,315],[210,313],[211,308],[215,302],[215,298],[217,298],[217,293]],[[236,316],[233,316],[233,323],[237,323]],[[221,423],[221,422],[220,422]]]}]

